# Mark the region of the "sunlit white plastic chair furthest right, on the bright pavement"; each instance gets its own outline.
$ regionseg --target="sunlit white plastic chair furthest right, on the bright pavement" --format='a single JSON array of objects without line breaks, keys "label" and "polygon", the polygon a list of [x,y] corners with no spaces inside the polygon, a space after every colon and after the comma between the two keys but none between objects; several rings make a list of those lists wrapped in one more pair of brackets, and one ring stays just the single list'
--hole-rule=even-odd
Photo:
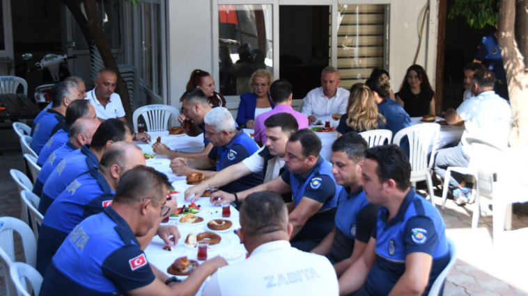
[{"label": "sunlit white plastic chair furthest right, on the bright pavement", "polygon": [[[481,211],[481,197],[489,200],[493,206],[493,245],[504,233],[504,229],[511,229],[512,204],[528,202],[527,183],[520,183],[515,176],[508,176],[505,167],[506,153],[503,149],[490,143],[476,139],[467,138],[472,145],[472,161],[476,166],[476,197],[471,227],[476,229],[479,224]],[[522,178],[522,176],[517,176]],[[485,204],[486,207],[489,204]]]}]

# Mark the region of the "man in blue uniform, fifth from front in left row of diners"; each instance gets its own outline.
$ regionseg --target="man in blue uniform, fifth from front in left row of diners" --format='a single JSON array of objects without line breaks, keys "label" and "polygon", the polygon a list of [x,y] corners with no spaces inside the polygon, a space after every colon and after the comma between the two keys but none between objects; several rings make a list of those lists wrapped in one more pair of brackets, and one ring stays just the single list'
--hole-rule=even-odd
[{"label": "man in blue uniform, fifth from front in left row of diners", "polygon": [[81,117],[95,117],[95,108],[86,100],[78,99],[72,101],[70,106],[66,109],[66,116],[64,120],[64,126],[62,129],[57,131],[52,138],[49,138],[46,145],[40,150],[38,154],[37,164],[42,167],[57,148],[61,147],[65,142],[68,142],[70,138],[70,129],[72,125]]}]

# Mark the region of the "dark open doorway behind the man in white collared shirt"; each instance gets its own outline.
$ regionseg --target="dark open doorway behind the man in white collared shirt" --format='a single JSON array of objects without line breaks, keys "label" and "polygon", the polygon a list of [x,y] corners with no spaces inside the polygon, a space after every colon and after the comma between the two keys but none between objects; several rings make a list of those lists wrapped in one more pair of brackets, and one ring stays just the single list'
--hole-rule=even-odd
[{"label": "dark open doorway behind the man in white collared shirt", "polygon": [[293,86],[293,99],[303,99],[321,86],[330,65],[331,6],[280,6],[279,75]]}]

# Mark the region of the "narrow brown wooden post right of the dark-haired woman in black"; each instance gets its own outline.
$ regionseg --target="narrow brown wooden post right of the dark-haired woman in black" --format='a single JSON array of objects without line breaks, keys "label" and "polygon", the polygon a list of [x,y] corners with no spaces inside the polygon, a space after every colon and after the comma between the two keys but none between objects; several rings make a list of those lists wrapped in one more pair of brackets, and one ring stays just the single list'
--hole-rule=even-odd
[{"label": "narrow brown wooden post right of the dark-haired woman in black", "polygon": [[446,49],[446,19],[447,0],[438,2],[438,40],[436,53],[436,87],[435,87],[435,110],[436,115],[442,115],[444,103],[444,56]]}]

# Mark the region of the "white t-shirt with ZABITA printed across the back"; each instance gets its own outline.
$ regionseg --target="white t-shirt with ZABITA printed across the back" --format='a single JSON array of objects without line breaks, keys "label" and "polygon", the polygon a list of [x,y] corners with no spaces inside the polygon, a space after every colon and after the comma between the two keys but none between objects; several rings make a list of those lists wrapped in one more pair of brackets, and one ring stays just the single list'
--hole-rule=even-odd
[{"label": "white t-shirt with ZABITA printed across the back", "polygon": [[336,272],[324,256],[299,251],[286,240],[260,245],[240,263],[219,268],[202,296],[339,295]]}]

